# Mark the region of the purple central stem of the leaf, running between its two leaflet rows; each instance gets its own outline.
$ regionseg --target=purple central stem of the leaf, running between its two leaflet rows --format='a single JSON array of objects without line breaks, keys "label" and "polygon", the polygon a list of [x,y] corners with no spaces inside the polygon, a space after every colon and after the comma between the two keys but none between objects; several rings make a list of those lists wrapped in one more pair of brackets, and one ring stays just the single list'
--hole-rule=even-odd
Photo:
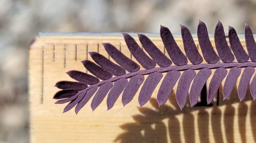
[{"label": "purple central stem of the leaf, running between its two leaflet rows", "polygon": [[169,67],[158,67],[158,68],[153,68],[153,69],[145,69],[145,70],[140,70],[140,71],[136,71],[136,72],[131,72],[131,73],[126,73],[120,76],[115,76],[112,77],[110,79],[107,80],[102,80],[96,84],[91,85],[90,87],[88,87],[87,89],[91,89],[93,87],[99,87],[100,85],[106,83],[106,82],[113,82],[116,81],[120,78],[130,78],[133,77],[137,74],[141,74],[141,75],[147,75],[147,74],[151,74],[154,72],[168,72],[168,71],[184,71],[184,70],[200,70],[200,69],[218,69],[218,68],[233,68],[233,67],[238,67],[238,68],[245,68],[245,67],[256,67],[256,63],[254,62],[245,62],[245,63],[215,63],[215,64],[199,64],[199,65],[184,65],[184,66],[169,66]]}]

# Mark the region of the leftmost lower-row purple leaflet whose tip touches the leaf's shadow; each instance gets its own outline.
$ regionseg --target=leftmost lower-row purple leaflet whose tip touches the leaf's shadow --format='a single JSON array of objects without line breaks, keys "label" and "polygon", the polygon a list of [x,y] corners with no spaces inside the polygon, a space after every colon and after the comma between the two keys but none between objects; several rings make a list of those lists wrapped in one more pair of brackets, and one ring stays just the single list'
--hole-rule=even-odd
[{"label": "leftmost lower-row purple leaflet whose tip touches the leaf's shadow", "polygon": [[163,77],[163,74],[159,72],[154,72],[148,75],[139,94],[140,106],[143,106],[144,104],[146,104],[148,100],[150,100],[150,97],[152,96],[153,91],[157,87],[157,84],[159,83],[162,77]]}]

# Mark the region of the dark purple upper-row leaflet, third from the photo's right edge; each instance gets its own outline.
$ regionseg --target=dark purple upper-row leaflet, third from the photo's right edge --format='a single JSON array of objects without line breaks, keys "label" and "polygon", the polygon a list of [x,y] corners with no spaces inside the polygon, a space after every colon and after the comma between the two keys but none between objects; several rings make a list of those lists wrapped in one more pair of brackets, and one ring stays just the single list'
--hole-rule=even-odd
[{"label": "dark purple upper-row leaflet, third from the photo's right edge", "polygon": [[224,63],[233,62],[234,56],[227,45],[224,28],[220,20],[215,27],[214,41],[221,61]]}]

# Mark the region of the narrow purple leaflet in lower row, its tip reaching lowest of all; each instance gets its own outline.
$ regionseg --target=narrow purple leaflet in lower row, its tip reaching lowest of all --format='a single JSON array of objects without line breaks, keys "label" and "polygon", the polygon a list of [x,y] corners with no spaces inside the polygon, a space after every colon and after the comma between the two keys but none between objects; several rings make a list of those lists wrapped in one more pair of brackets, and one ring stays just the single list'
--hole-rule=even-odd
[{"label": "narrow purple leaflet in lower row, its tip reaching lowest of all", "polygon": [[75,112],[76,114],[78,111],[86,105],[86,103],[91,99],[93,94],[97,91],[98,87],[91,88],[90,90],[87,91],[86,95],[83,97],[83,99],[76,105]]}]

